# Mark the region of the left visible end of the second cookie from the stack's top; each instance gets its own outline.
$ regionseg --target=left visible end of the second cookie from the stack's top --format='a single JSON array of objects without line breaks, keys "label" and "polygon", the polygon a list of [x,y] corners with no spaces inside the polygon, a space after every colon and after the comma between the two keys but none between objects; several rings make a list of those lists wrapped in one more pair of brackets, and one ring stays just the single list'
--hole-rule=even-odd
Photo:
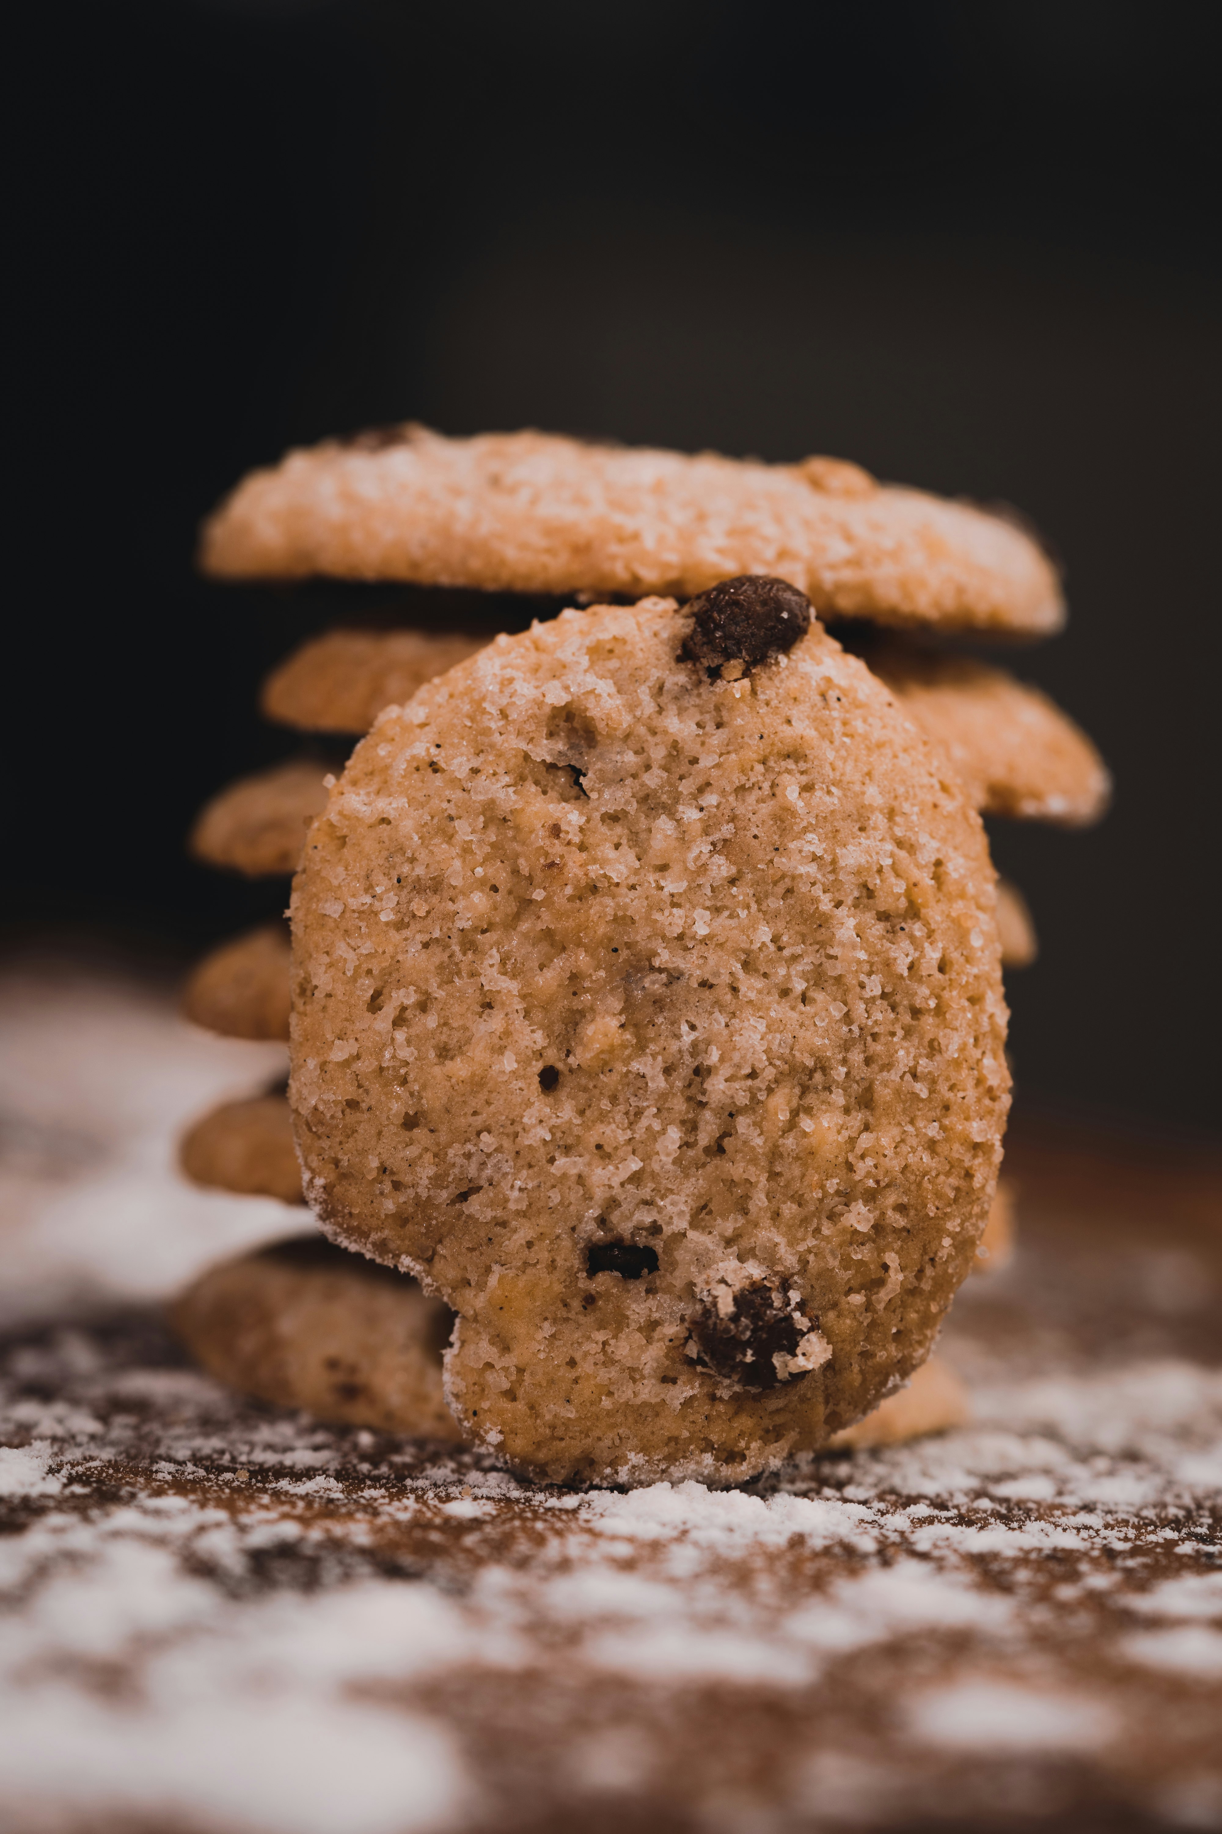
[{"label": "left visible end of the second cookie from the stack's top", "polygon": [[273,669],[260,708],[300,732],[368,732],[383,706],[410,701],[486,642],[432,631],[328,631]]}]

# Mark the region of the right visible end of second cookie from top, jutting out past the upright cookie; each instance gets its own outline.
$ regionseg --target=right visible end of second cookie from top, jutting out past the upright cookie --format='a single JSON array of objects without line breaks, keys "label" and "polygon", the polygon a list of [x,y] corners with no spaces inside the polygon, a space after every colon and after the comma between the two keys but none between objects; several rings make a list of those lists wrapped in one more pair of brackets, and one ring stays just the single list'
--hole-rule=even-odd
[{"label": "right visible end of second cookie from top, jutting out past the upright cookie", "polygon": [[1085,827],[1107,809],[1112,779],[1103,759],[1039,688],[914,646],[870,646],[867,662],[945,750],[984,814]]}]

